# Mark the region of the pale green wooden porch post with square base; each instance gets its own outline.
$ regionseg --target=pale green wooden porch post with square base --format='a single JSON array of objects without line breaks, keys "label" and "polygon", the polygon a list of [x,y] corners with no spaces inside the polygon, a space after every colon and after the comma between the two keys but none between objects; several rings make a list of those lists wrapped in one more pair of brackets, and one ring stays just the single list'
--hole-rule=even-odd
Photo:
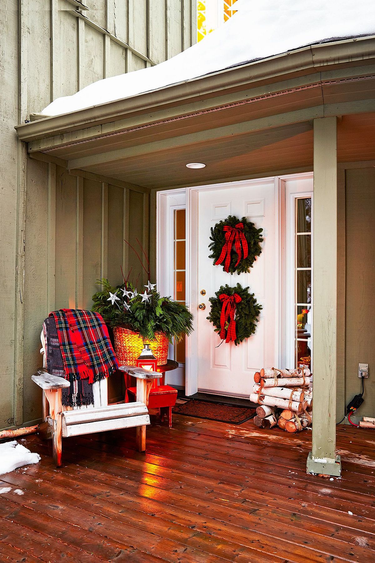
[{"label": "pale green wooden porch post with square base", "polygon": [[313,446],[308,473],[340,476],[336,456],[337,118],[314,119]]}]

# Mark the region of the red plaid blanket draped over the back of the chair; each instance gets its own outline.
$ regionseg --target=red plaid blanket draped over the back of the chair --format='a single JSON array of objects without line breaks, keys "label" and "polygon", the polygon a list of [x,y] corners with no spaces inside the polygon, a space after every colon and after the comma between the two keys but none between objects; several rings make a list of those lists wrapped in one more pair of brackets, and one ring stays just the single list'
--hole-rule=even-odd
[{"label": "red plaid blanket draped over the back of the chair", "polygon": [[100,381],[118,369],[115,352],[101,315],[80,309],[60,309],[55,318],[65,379]]}]

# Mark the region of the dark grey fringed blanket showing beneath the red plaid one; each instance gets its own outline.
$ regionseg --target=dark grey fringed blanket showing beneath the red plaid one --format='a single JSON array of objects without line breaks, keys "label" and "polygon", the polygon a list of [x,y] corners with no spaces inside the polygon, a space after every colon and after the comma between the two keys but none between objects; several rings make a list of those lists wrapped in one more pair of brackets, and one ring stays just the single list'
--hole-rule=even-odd
[{"label": "dark grey fringed blanket showing beneath the red plaid one", "polygon": [[[64,377],[64,362],[58,342],[56,323],[53,316],[47,317],[43,323],[44,342],[46,342],[46,364],[48,373],[56,377]],[[88,379],[70,381],[70,387],[62,390],[62,404],[64,406],[90,406],[94,404],[92,385]]]}]

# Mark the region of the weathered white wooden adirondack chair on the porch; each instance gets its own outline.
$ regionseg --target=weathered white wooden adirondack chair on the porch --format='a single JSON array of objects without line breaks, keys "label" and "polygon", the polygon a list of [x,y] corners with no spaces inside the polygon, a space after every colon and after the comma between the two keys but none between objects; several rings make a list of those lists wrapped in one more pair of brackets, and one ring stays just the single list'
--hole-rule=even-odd
[{"label": "weathered white wooden adirondack chair on the porch", "polygon": [[93,383],[94,406],[70,408],[62,406],[62,389],[69,387],[69,381],[56,377],[47,372],[46,342],[43,330],[40,334],[43,354],[43,368],[31,376],[31,379],[43,389],[43,421],[48,427],[53,440],[53,461],[56,467],[61,467],[62,437],[80,436],[119,430],[120,428],[136,427],[137,448],[139,452],[146,450],[146,425],[150,424],[147,410],[147,394],[153,379],[159,378],[160,373],[149,372],[142,368],[121,366],[119,369],[137,378],[137,401],[117,405],[108,404],[107,379]]}]

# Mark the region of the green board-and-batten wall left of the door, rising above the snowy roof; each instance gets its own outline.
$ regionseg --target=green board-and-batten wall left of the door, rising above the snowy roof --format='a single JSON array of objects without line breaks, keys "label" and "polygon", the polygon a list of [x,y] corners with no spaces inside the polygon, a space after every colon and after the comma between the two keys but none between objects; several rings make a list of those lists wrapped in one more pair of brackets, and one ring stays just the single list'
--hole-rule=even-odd
[{"label": "green board-and-batten wall left of the door, rising above the snowy roof", "polygon": [[95,280],[119,283],[120,266],[133,266],[136,279],[141,266],[123,238],[146,247],[149,238],[148,190],[26,158],[14,126],[98,79],[161,62],[195,37],[195,0],[168,0],[173,25],[164,0],[144,0],[142,10],[134,0],[85,5],[82,13],[69,0],[3,0],[0,7],[0,428],[40,417],[30,377],[48,312],[91,307]]}]

